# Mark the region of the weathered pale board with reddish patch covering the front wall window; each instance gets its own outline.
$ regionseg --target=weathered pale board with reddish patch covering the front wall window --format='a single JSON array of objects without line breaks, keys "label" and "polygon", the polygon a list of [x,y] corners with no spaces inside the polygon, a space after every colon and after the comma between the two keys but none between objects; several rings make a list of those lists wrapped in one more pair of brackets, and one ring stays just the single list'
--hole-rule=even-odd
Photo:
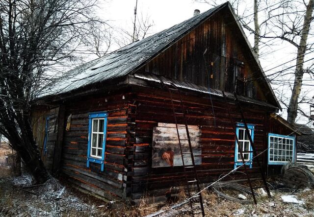
[{"label": "weathered pale board with reddish patch covering the front wall window", "polygon": [[[180,139],[186,139],[186,130],[179,124]],[[188,125],[189,135],[195,164],[202,163],[201,130],[199,126]],[[182,140],[183,152],[189,152],[187,140]],[[173,123],[158,123],[153,128],[153,168],[183,166],[176,125]],[[191,155],[183,154],[184,165],[192,165]]]}]

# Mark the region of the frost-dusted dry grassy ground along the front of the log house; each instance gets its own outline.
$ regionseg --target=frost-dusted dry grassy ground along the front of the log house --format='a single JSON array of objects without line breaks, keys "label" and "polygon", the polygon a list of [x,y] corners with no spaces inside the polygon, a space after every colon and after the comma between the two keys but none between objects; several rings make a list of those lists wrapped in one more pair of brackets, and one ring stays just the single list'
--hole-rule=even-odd
[{"label": "frost-dusted dry grassy ground along the front of the log house", "polygon": [[[271,192],[273,198],[259,196],[258,204],[255,205],[227,200],[209,190],[203,193],[206,216],[314,217],[314,189],[292,191],[276,188],[276,190],[271,189]],[[229,192],[228,189],[224,193],[238,195],[238,192]],[[302,200],[303,203],[284,202],[282,196],[288,195]],[[245,196],[252,199],[248,194]],[[184,194],[180,196],[180,201],[182,200],[184,200]],[[0,217],[141,217],[160,209],[167,210],[173,204],[151,204],[143,199],[138,206],[121,205],[118,208],[108,209],[105,201],[79,193],[54,178],[49,179],[43,185],[34,185],[31,175],[26,173],[15,178],[0,177]],[[173,217],[191,215],[186,212],[189,209],[188,204],[181,209],[185,212],[177,213]],[[164,214],[161,216],[169,215],[169,213]]]}]

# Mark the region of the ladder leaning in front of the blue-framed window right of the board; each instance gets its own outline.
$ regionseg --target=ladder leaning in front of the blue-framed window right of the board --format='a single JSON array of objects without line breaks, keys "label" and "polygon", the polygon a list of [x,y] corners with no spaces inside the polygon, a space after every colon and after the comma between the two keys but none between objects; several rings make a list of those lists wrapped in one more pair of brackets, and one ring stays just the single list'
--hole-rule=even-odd
[{"label": "ladder leaning in front of the blue-framed window right of the board", "polygon": [[[235,131],[234,121],[233,121],[233,118],[232,118],[232,116],[231,116],[230,108],[229,108],[229,106],[228,106],[228,105],[229,105],[229,102],[228,102],[228,100],[227,100],[227,97],[226,97],[224,91],[222,91],[222,94],[223,94],[224,99],[225,99],[225,103],[226,103],[226,106],[227,106],[229,119],[230,119],[230,121],[231,121],[231,123],[232,123],[233,131],[235,132],[235,141],[236,141],[236,144],[239,144],[239,140],[238,140],[238,137],[237,137],[236,131]],[[242,160],[242,163],[243,163],[243,168],[244,168],[244,170],[245,170],[245,174],[246,174],[247,180],[248,180],[248,182],[249,182],[249,186],[250,186],[250,189],[251,189],[251,193],[252,193],[252,196],[253,196],[254,203],[257,204],[254,189],[265,188],[265,189],[266,189],[266,192],[267,192],[267,195],[268,195],[269,198],[271,198],[271,195],[270,195],[270,192],[269,192],[269,188],[268,188],[268,186],[267,186],[267,183],[266,183],[266,178],[265,178],[264,170],[263,170],[263,168],[262,168],[262,165],[261,165],[259,156],[257,155],[256,149],[255,149],[255,147],[254,147],[254,143],[253,143],[252,137],[251,137],[251,135],[250,135],[250,131],[249,131],[249,128],[248,128],[248,126],[247,126],[247,122],[246,122],[246,120],[245,120],[245,118],[244,118],[243,111],[242,111],[240,102],[239,102],[239,100],[238,100],[236,94],[235,94],[235,101],[234,101],[234,102],[235,102],[235,104],[237,104],[237,106],[238,106],[238,110],[239,110],[239,112],[240,112],[240,114],[241,114],[241,119],[242,119],[243,124],[244,124],[244,128],[245,128],[246,135],[248,136],[249,141],[250,141],[250,144],[251,144],[251,149],[252,149],[252,151],[242,151],[242,148],[238,148],[238,150],[239,150],[240,155],[241,155],[241,160]],[[249,153],[249,154],[252,153],[252,155],[253,155],[252,159],[257,162],[257,167],[254,167],[254,168],[252,167],[252,168],[249,168],[249,169],[247,168],[247,166],[246,166],[246,163],[247,163],[247,162],[245,162],[244,156],[243,156],[243,154],[245,154],[245,153]],[[235,154],[237,154],[237,153],[235,153]],[[253,160],[252,160],[252,162],[251,162],[252,165],[253,165]],[[250,177],[250,171],[251,171],[252,169],[259,169],[259,170],[260,170],[260,173],[261,173],[261,176],[262,176],[262,181],[263,181],[263,185],[262,185],[262,186],[256,186],[256,187],[253,187],[253,186],[252,186],[251,177]]]}]

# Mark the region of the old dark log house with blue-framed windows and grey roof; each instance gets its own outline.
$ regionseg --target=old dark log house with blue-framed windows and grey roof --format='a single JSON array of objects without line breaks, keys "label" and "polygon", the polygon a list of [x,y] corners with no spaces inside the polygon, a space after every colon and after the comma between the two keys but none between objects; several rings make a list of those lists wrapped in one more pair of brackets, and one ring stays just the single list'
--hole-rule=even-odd
[{"label": "old dark log house with blue-framed windows and grey roof", "polygon": [[295,160],[296,133],[275,115],[280,104],[227,2],[79,66],[43,92],[32,124],[47,168],[107,199],[177,193],[182,159],[160,80],[182,92],[202,183],[241,165],[238,148],[250,150],[237,105],[222,91],[229,101],[238,95],[258,153],[271,147],[262,154],[266,171]]}]

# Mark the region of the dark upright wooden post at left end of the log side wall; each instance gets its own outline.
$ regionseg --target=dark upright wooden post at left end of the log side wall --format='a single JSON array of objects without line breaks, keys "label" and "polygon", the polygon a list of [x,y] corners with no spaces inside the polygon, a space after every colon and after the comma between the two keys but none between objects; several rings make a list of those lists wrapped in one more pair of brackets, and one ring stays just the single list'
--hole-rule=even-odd
[{"label": "dark upright wooden post at left end of the log side wall", "polygon": [[65,106],[60,105],[58,122],[57,122],[57,141],[54,146],[53,163],[52,163],[52,173],[54,175],[56,175],[60,169],[63,134],[64,134],[64,120],[65,120]]}]

